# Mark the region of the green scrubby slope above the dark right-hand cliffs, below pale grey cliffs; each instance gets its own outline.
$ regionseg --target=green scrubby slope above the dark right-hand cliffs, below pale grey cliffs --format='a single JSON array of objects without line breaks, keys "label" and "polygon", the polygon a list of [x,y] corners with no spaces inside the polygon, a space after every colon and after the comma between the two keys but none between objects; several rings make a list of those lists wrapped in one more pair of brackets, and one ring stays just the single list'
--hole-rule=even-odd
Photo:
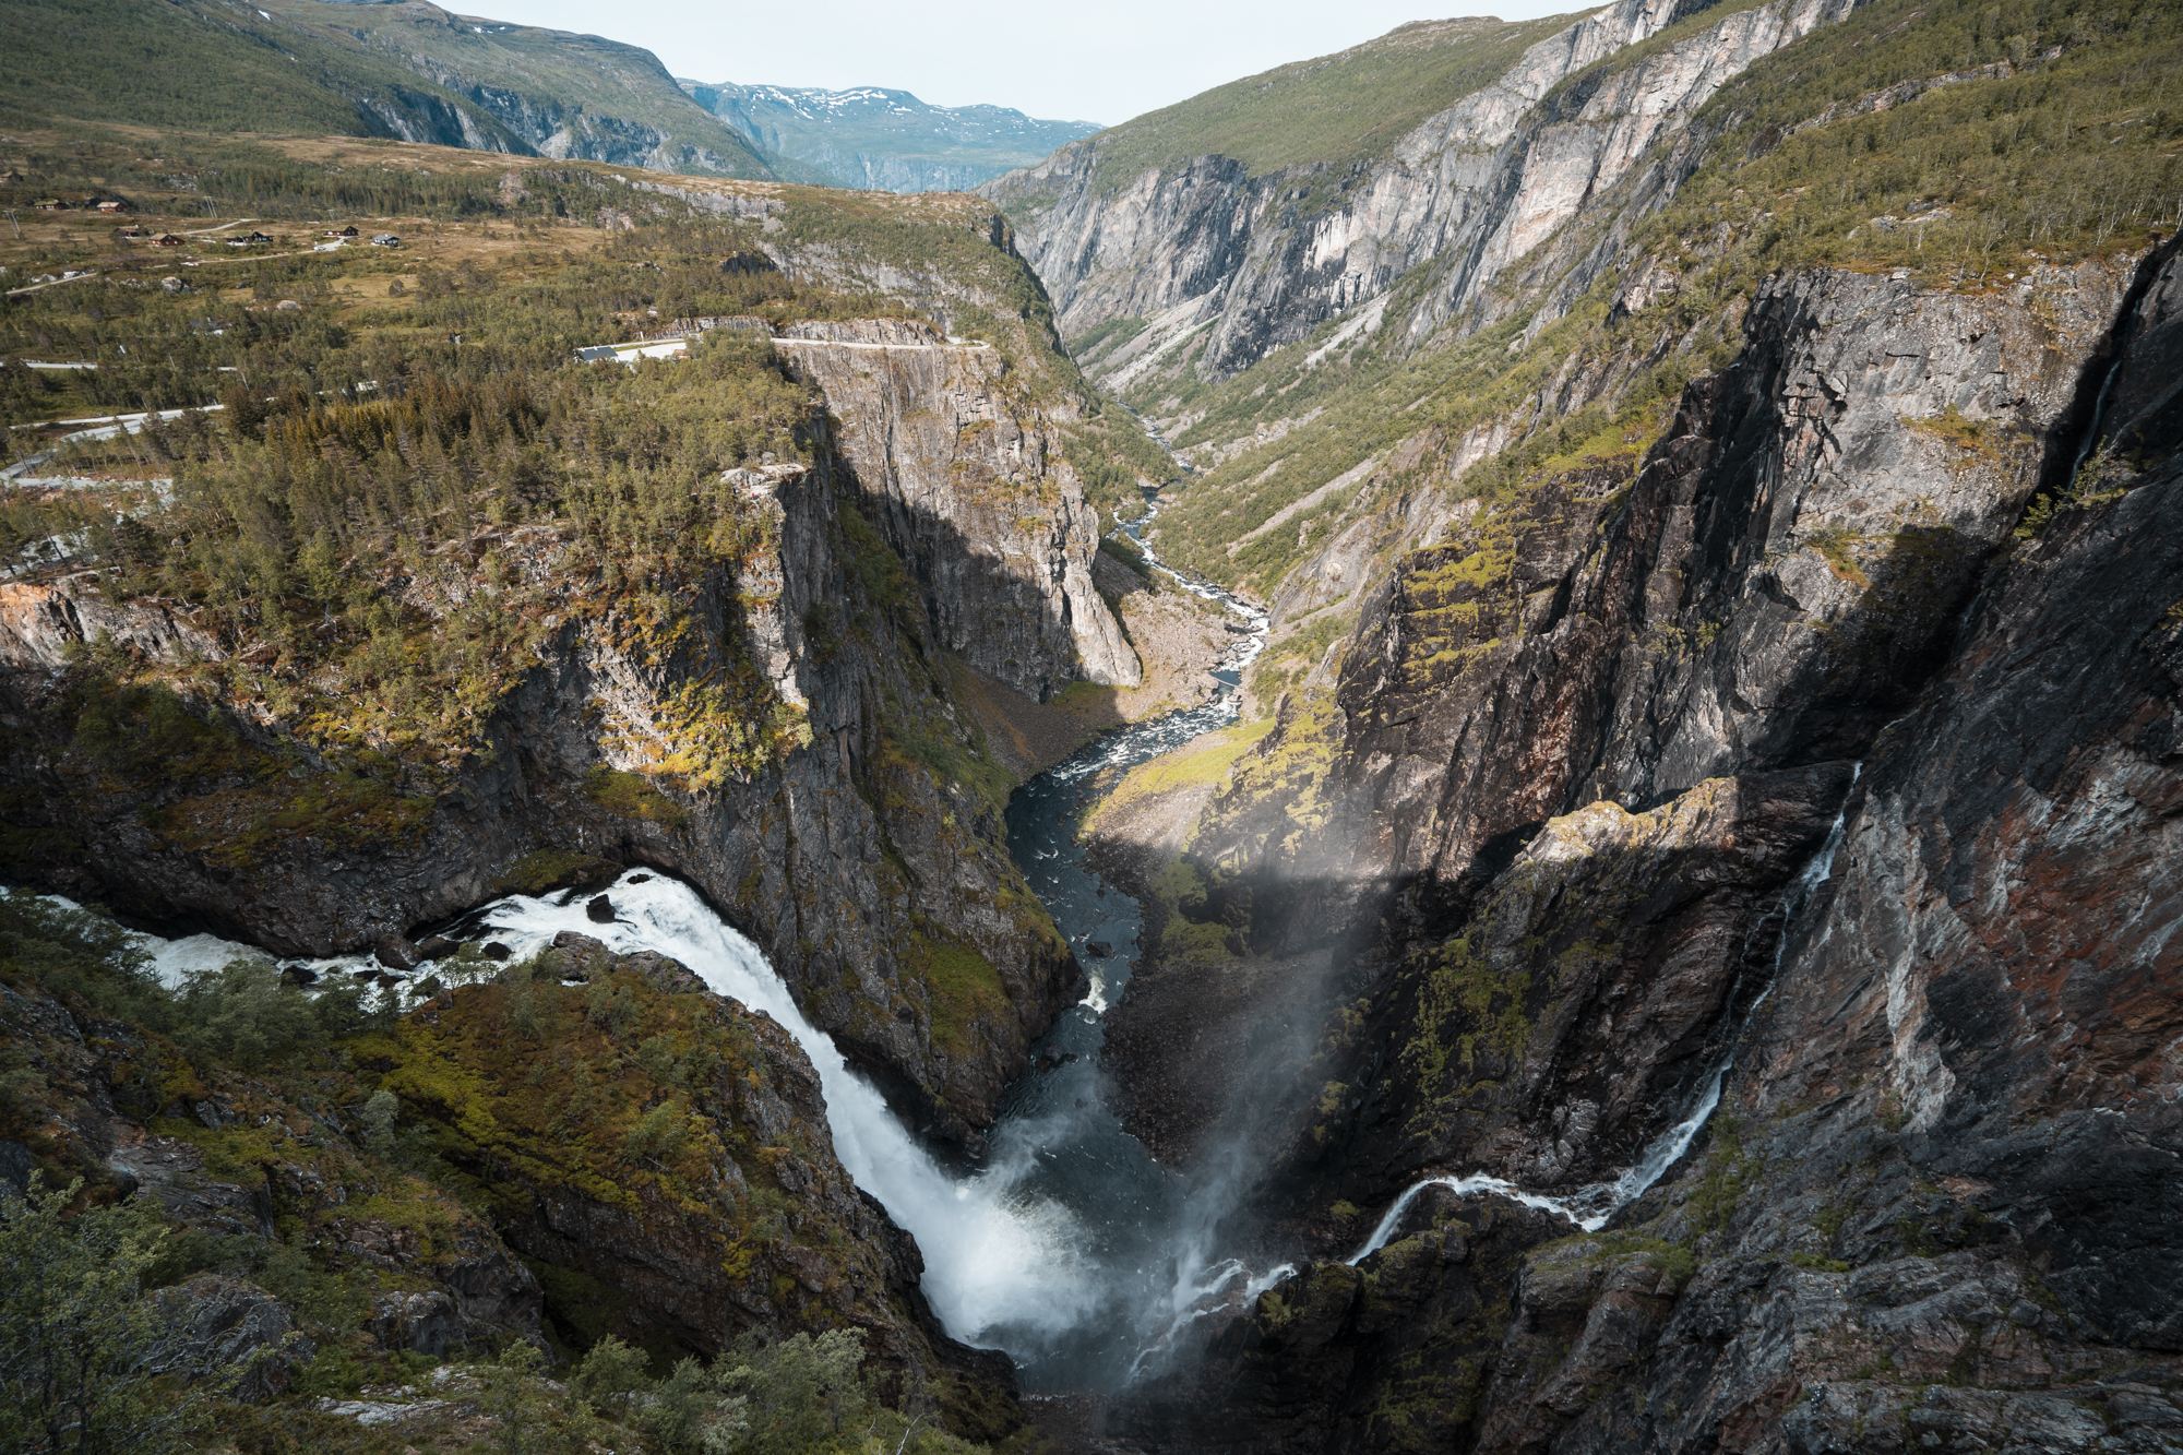
[{"label": "green scrubby slope above the dark right-hand cliffs, below pale grey cliffs", "polygon": [[[1583,94],[1629,63],[1611,57],[1565,85]],[[1340,328],[1327,323],[1231,380],[1185,371],[1129,393],[1148,415],[1188,422],[1185,452],[1220,448],[1161,520],[1164,544],[1271,592],[1314,537],[1443,478],[1447,443],[1487,422],[1506,422],[1517,443],[1463,489],[1556,457],[1642,448],[1685,378],[1733,358],[1735,299],[1784,269],[1901,269],[1923,286],[1984,293],[2041,262],[2135,251],[2183,205],[2179,66],[2183,20],[2163,4],[1864,7],[1722,87],[1692,122],[1705,144],[1672,201],[1626,216],[1629,192],[1605,199],[1572,225],[1578,242],[1511,271],[1484,328],[1458,319],[1419,343],[1388,326],[1312,360]],[[1607,238],[1615,264],[1570,291],[1561,269]],[[1419,310],[1436,280],[1432,264],[1412,269],[1388,319]],[[1554,380],[1602,371],[1618,378],[1607,400],[1535,413]],[[1286,428],[1253,443],[1268,426]],[[1410,439],[1428,443],[1404,468],[1382,463],[1364,489],[1242,540]]]}]

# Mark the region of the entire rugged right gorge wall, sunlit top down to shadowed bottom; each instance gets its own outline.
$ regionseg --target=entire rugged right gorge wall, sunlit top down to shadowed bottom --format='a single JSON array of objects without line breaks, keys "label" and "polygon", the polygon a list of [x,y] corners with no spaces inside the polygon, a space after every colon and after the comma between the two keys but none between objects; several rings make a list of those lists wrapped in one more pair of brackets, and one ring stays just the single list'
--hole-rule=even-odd
[{"label": "entire rugged right gorge wall, sunlit top down to shadowed bottom", "polygon": [[[2179,277],[2172,245],[2080,271],[2067,343],[2030,295],[1777,280],[1633,470],[1548,472],[1500,546],[1406,557],[1209,819],[1249,828],[1220,863],[1262,920],[1323,918],[1281,915],[1303,885],[1399,957],[1323,1044],[1266,1210],[1327,1254],[1351,1199],[1434,1171],[1607,1212],[1718,1110],[1602,1232],[1511,1226],[1476,1263],[1495,1199],[1445,1195],[1216,1320],[1212,1413],[1174,1376],[1126,1420],[1264,1451],[2163,1448],[2183,474],[2113,446],[2172,430]],[[1364,782],[1393,795],[1345,808]],[[1369,889],[1308,848],[1425,821],[1458,852]]]}]

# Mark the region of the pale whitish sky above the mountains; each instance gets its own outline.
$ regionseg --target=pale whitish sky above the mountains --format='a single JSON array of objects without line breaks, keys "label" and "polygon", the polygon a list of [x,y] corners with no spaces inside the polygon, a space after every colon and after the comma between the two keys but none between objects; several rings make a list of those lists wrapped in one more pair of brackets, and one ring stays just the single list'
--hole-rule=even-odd
[{"label": "pale whitish sky above the mountains", "polygon": [[[1447,0],[1441,0],[1443,4]],[[1434,0],[1423,0],[1434,4]],[[450,7],[454,9],[454,7]],[[991,103],[1107,127],[1281,61],[1384,35],[1408,20],[1532,20],[1583,0],[1419,9],[1404,0],[465,0],[463,13],[644,46],[692,81],[884,85],[943,107]]]}]

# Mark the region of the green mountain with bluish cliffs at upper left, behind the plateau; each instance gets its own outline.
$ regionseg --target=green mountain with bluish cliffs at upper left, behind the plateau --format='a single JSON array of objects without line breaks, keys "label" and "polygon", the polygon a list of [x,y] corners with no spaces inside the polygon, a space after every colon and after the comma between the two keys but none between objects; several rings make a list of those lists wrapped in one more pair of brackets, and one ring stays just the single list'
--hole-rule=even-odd
[{"label": "green mountain with bluish cliffs at upper left, behind the plateau", "polygon": [[773,177],[651,50],[428,0],[0,0],[0,122],[386,135]]}]

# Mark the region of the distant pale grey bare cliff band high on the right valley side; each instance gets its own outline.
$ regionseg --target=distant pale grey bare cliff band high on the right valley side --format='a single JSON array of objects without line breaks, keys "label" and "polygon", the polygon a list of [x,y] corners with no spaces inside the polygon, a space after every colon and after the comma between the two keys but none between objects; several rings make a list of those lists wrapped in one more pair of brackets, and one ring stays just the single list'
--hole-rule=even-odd
[{"label": "distant pale grey bare cliff band high on the right valley side", "polygon": [[[1222,378],[1345,310],[1360,310],[1351,336],[1393,328],[1423,341],[1456,315],[1498,312],[1489,286],[1506,267],[1615,188],[1722,81],[1849,9],[1851,0],[1777,0],[1711,26],[1694,22],[1672,46],[1583,74],[1705,11],[1687,0],[1620,0],[1530,46],[1489,85],[1332,181],[1336,194],[1310,212],[1299,199],[1316,201],[1329,186],[1316,166],[1253,177],[1207,155],[1116,188],[1102,184],[1102,146],[1113,149],[1105,138],[980,190],[1015,218],[1063,332],[1155,321],[1092,356],[1109,382],[1181,365]],[[1583,79],[1565,87],[1572,76]],[[1388,323],[1384,295],[1425,264],[1425,282]]]}]

